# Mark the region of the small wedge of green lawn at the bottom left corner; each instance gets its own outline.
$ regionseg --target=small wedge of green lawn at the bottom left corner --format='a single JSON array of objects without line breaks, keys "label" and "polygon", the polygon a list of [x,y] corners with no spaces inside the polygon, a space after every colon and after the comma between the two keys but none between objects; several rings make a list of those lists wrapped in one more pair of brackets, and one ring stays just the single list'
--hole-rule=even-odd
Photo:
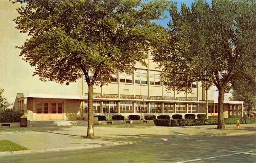
[{"label": "small wedge of green lawn at the bottom left corner", "polygon": [[6,151],[21,151],[21,150],[27,150],[27,148],[13,143],[9,140],[0,140],[0,152],[6,152]]}]

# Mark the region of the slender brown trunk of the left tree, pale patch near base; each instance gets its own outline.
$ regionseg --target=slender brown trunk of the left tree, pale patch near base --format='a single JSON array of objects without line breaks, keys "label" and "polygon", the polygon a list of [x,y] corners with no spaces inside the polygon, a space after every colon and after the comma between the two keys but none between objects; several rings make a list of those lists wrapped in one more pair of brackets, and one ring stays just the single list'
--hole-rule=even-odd
[{"label": "slender brown trunk of the left tree, pale patch near base", "polygon": [[87,127],[87,138],[94,138],[94,127],[93,127],[93,84],[88,84],[88,127]]}]

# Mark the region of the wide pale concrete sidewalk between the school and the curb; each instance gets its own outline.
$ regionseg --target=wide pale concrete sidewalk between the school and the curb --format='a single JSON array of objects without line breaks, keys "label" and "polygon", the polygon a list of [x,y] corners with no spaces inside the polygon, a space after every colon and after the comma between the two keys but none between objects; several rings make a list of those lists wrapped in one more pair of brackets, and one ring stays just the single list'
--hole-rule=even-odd
[{"label": "wide pale concrete sidewalk between the school and the curb", "polygon": [[[236,125],[225,125],[225,130],[216,130],[216,127],[216,125],[190,127],[161,127],[154,124],[95,125],[95,139],[83,138],[87,134],[87,126],[0,128],[0,140],[10,140],[29,149],[17,153],[30,153],[256,133],[256,124],[241,124],[240,129],[236,129]],[[12,152],[0,153],[0,155],[5,154]]]}]

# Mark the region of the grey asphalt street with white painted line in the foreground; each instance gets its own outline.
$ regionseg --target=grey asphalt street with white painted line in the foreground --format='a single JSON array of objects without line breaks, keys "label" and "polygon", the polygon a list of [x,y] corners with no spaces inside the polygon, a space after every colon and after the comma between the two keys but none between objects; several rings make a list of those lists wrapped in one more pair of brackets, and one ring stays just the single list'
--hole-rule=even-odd
[{"label": "grey asphalt street with white painted line in the foreground", "polygon": [[256,134],[0,156],[0,162],[256,162]]}]

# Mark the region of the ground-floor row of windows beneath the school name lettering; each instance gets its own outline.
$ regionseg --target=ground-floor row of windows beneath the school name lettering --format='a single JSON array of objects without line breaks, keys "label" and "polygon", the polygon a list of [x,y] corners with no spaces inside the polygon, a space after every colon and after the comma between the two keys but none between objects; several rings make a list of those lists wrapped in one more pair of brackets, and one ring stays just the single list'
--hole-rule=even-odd
[{"label": "ground-floor row of windows beneath the school name lettering", "polygon": [[[120,113],[133,113],[133,102],[120,102]],[[93,113],[100,113],[100,101],[93,101]],[[197,104],[188,104],[188,113],[196,113]],[[162,103],[136,102],[135,113],[161,113]],[[164,113],[174,113],[174,103],[163,103]],[[88,103],[85,102],[84,113],[88,113]],[[103,101],[102,113],[117,113],[117,101]],[[176,103],[176,113],[186,113],[185,103]]]}]

